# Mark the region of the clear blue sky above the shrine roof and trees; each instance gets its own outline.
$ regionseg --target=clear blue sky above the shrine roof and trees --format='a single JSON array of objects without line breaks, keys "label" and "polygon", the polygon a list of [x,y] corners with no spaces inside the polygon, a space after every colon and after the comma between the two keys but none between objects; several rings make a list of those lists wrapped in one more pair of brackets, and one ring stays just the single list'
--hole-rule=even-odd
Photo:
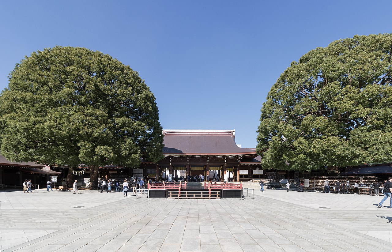
[{"label": "clear blue sky above the shrine roof and trees", "polygon": [[25,55],[86,47],[130,65],[164,129],[236,129],[256,147],[260,109],[303,54],[392,33],[390,1],[0,1],[0,89]]}]

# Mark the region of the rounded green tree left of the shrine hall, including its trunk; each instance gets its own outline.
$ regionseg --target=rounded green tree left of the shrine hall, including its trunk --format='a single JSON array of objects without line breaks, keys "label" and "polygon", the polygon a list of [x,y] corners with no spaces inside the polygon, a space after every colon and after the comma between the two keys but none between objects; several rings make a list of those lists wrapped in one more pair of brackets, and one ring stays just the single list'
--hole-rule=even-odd
[{"label": "rounded green tree left of the shrine hall, including its trunk", "polygon": [[12,161],[136,167],[162,158],[158,107],[137,72],[107,54],[56,46],[16,64],[0,95],[1,154]]}]

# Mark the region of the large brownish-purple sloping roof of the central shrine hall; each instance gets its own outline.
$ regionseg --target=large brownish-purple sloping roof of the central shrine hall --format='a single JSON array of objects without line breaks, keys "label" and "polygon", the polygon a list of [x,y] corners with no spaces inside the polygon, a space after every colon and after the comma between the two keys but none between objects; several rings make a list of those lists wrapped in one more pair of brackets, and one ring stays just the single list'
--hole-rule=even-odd
[{"label": "large brownish-purple sloping roof of the central shrine hall", "polygon": [[235,131],[164,130],[163,154],[256,154],[236,145]]}]

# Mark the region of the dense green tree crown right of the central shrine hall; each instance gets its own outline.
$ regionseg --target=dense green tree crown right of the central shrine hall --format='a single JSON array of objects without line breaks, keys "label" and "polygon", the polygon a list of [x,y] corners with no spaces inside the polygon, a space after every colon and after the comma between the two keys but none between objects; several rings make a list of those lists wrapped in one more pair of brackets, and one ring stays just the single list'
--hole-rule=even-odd
[{"label": "dense green tree crown right of the central shrine hall", "polygon": [[269,169],[392,161],[392,34],[354,36],[292,62],[261,109]]}]

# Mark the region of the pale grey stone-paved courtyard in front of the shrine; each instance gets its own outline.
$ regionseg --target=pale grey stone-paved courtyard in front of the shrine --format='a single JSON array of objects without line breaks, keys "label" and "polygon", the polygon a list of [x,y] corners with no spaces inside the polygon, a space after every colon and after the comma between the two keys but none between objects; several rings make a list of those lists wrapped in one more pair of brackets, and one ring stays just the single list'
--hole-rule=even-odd
[{"label": "pale grey stone-paved courtyard in front of the shrine", "polygon": [[[1,251],[340,252],[392,248],[381,196],[255,190],[254,199],[0,192]],[[388,205],[387,200],[384,205]]]}]

